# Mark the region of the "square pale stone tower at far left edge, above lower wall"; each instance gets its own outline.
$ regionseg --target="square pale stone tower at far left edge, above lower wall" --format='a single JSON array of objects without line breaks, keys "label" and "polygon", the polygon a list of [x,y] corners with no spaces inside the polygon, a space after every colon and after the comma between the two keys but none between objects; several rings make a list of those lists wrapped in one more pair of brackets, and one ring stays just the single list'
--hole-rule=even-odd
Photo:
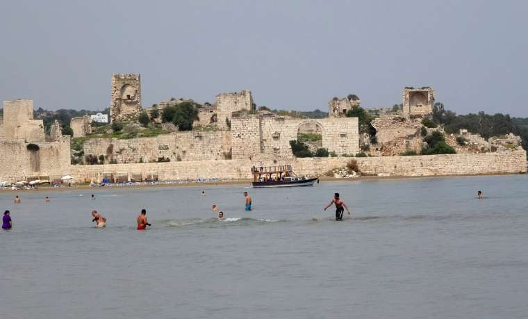
[{"label": "square pale stone tower at far left edge, above lower wall", "polygon": [[44,142],[44,122],[33,120],[33,101],[3,101],[3,138]]}]

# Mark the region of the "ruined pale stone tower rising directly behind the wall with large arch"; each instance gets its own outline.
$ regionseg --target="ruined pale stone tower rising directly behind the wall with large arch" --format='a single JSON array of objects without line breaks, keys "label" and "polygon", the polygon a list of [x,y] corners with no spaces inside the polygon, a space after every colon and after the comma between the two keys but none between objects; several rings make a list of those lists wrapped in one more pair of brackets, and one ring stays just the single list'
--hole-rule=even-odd
[{"label": "ruined pale stone tower rising directly behind the wall with large arch", "polygon": [[231,114],[236,111],[254,111],[253,95],[251,90],[242,90],[233,93],[220,93],[216,96],[215,107],[219,127],[226,128],[231,122]]}]

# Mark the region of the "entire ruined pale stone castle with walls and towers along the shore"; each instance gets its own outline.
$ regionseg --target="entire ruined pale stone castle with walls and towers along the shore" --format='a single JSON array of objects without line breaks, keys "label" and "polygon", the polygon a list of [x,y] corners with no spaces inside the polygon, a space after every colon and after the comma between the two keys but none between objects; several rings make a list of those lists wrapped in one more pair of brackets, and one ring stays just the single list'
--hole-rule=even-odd
[{"label": "entire ruined pale stone castle with walls and towers along the shore", "polygon": [[[110,117],[113,121],[135,122],[141,111],[160,113],[177,106],[183,99],[162,101],[153,108],[141,108],[139,74],[114,74]],[[329,101],[329,116],[322,119],[281,116],[256,111],[250,90],[222,93],[214,104],[198,108],[199,120],[193,131],[174,131],[155,137],[87,138],[79,154],[97,158],[99,165],[72,165],[69,136],[63,136],[60,123],[44,133],[42,120],[33,119],[33,101],[4,101],[0,123],[0,181],[20,179],[53,180],[65,174],[79,179],[115,181],[131,179],[249,178],[249,167],[258,161],[265,165],[291,164],[299,174],[322,174],[346,165],[355,158],[367,174],[482,174],[486,172],[526,172],[526,152],[515,136],[488,141],[485,154],[470,154],[459,145],[460,154],[438,156],[399,156],[419,151],[422,117],[431,113],[434,90],[404,89],[402,112],[381,115],[372,121],[375,137],[359,133],[357,117],[346,113],[359,107],[356,95]],[[75,137],[90,137],[90,117],[76,117],[70,125]],[[160,120],[158,120],[158,124]],[[139,127],[137,123],[131,126]],[[167,124],[167,123],[163,123]],[[163,127],[162,124],[162,127]],[[201,127],[198,127],[201,126]],[[204,127],[207,126],[207,127]],[[427,128],[427,132],[435,129]],[[171,130],[168,130],[171,131]],[[366,136],[365,136],[366,134]],[[446,136],[449,145],[456,136]],[[295,158],[290,142],[305,142],[311,152],[324,148],[329,157]],[[469,144],[486,147],[478,137],[468,136]],[[502,152],[501,154],[495,154]],[[481,152],[481,151],[479,151]],[[72,157],[73,156],[73,157]],[[372,157],[370,157],[372,156]],[[106,164],[102,164],[106,163]]]}]

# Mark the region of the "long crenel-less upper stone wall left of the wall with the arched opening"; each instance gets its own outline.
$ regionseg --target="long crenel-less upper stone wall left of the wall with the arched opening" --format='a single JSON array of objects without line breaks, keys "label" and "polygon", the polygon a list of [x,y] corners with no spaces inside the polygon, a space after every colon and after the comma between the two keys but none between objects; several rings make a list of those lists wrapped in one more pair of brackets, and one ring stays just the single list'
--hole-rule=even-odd
[{"label": "long crenel-less upper stone wall left of the wall with the arched opening", "polygon": [[158,158],[171,162],[227,159],[231,157],[230,145],[229,131],[187,131],[130,140],[93,138],[84,143],[83,149],[85,155],[104,155],[108,162],[147,163]]}]

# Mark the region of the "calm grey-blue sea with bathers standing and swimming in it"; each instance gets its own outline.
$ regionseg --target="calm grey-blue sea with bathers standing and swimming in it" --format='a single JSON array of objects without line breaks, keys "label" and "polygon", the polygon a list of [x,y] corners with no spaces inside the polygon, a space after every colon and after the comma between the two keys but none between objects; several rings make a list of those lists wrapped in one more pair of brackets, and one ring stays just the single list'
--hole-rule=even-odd
[{"label": "calm grey-blue sea with bathers standing and swimming in it", "polygon": [[527,318],[527,181],[1,192],[0,318]]}]

